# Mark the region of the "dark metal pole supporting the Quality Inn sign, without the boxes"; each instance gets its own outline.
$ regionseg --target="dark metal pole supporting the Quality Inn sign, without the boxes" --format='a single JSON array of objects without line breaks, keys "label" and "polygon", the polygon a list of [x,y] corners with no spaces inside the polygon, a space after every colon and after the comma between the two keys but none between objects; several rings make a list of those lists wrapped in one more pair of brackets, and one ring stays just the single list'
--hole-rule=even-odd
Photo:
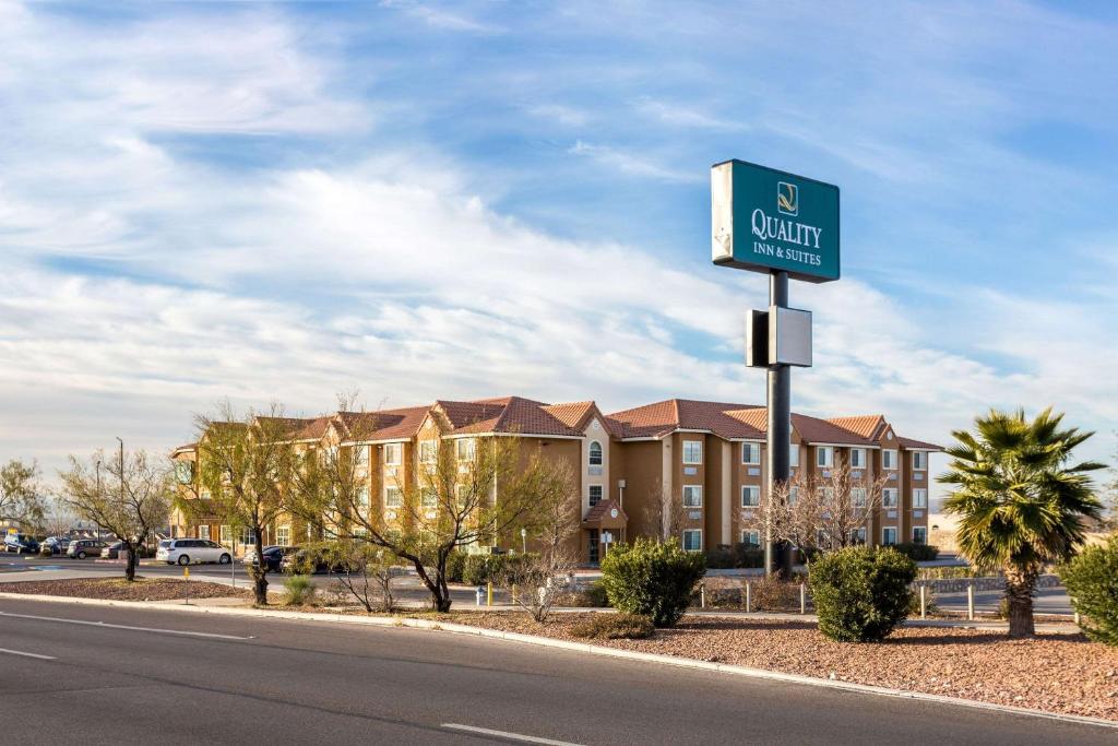
[{"label": "dark metal pole supporting the Quality Inn sign, without the boxes", "polygon": [[[788,308],[788,273],[769,274],[769,313]],[[770,365],[768,369],[768,474],[766,476],[766,499],[771,506],[776,499],[776,487],[788,481],[788,450],[792,442],[792,367]],[[773,539],[771,508],[765,511],[765,572],[775,569],[775,542]],[[789,565],[790,557],[781,557],[781,568]],[[790,568],[789,568],[790,569]]]}]

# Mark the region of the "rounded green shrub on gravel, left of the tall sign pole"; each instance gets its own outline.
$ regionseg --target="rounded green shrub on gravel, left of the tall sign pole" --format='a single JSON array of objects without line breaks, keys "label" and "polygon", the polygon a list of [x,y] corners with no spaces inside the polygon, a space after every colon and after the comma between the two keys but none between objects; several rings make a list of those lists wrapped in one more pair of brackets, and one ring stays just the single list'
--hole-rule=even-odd
[{"label": "rounded green shrub on gravel, left of the tall sign pole", "polygon": [[614,608],[647,616],[656,626],[672,626],[683,616],[705,570],[701,554],[642,538],[618,545],[603,558],[601,585]]}]

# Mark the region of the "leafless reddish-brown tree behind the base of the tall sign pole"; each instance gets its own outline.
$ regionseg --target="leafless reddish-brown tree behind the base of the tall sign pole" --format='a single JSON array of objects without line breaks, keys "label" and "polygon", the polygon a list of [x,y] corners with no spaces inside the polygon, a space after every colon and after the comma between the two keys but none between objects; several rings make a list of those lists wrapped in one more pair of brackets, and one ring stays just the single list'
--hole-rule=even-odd
[{"label": "leafless reddish-brown tree behind the base of the tall sign pole", "polygon": [[775,541],[787,541],[805,554],[849,547],[863,540],[863,529],[882,507],[885,483],[884,475],[854,479],[846,464],[836,464],[827,476],[797,470],[760,504],[742,508],[741,522],[762,537],[768,525]]}]

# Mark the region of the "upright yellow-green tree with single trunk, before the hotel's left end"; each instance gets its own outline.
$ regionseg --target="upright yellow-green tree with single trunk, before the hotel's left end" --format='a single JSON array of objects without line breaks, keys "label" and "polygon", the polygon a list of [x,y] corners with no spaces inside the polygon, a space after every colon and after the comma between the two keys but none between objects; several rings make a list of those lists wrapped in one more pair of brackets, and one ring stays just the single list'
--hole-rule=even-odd
[{"label": "upright yellow-green tree with single trunk, before the hotel's left end", "polygon": [[[285,511],[287,490],[295,483],[300,461],[293,443],[301,421],[283,415],[278,405],[265,414],[238,416],[231,404],[219,405],[216,417],[197,415],[197,478],[183,484],[178,501],[188,516],[217,514],[234,531],[248,531],[256,556],[264,556],[264,533]],[[268,568],[248,565],[253,594],[260,606],[268,603]]]}]

